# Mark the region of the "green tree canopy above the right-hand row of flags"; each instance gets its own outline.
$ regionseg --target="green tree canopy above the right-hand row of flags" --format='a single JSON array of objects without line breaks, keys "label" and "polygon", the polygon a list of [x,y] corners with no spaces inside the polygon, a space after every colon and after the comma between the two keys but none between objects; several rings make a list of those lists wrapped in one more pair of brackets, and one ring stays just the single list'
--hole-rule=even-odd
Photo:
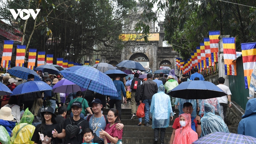
[{"label": "green tree canopy above the right-hand row of flags", "polygon": [[[165,12],[165,40],[173,45],[184,59],[209,37],[209,31],[220,30],[221,35],[236,38],[237,51],[241,43],[256,41],[256,1],[251,0],[140,0],[144,5],[143,19],[137,27],[147,30],[147,21],[157,22],[152,10],[157,5],[159,12]],[[232,3],[228,3],[232,2]],[[243,5],[239,5],[243,4]],[[252,7],[249,7],[252,6]],[[149,33],[144,31],[144,33]]]}]

